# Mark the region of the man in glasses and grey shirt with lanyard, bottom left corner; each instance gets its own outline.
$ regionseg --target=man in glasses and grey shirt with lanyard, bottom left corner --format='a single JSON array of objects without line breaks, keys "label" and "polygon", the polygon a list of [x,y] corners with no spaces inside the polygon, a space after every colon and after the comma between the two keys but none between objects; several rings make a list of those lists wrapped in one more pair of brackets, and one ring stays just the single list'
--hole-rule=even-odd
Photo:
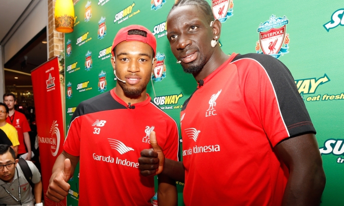
[{"label": "man in glasses and grey shirt with lanyard, bottom left corner", "polygon": [[[15,159],[14,150],[8,145],[0,145],[0,204],[7,206],[43,206],[42,182],[38,169],[27,161],[32,172],[34,196],[31,186]],[[34,205],[34,202],[37,204]]]}]

